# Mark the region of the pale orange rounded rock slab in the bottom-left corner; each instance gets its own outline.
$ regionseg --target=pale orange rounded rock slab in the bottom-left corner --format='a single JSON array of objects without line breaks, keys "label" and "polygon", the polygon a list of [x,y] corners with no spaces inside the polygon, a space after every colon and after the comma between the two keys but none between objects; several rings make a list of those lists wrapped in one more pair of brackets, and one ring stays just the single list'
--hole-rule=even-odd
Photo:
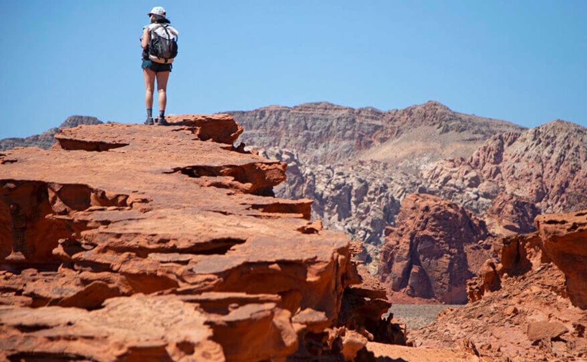
[{"label": "pale orange rounded rock slab in the bottom-left corner", "polygon": [[0,349],[19,360],[180,360],[224,361],[206,317],[173,297],[109,299],[104,308],[41,307],[1,309]]}]

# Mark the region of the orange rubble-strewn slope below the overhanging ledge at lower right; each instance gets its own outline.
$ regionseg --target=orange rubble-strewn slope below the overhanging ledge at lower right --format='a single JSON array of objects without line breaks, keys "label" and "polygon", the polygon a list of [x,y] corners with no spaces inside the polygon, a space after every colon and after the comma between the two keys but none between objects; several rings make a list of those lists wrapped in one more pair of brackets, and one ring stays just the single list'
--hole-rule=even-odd
[{"label": "orange rubble-strewn slope below the overhanging ledge at lower right", "polygon": [[421,347],[450,349],[467,338],[491,361],[581,360],[585,337],[573,326],[586,320],[587,312],[569,303],[564,291],[564,273],[544,263],[523,275],[502,276],[500,289],[445,310],[410,337]]}]

